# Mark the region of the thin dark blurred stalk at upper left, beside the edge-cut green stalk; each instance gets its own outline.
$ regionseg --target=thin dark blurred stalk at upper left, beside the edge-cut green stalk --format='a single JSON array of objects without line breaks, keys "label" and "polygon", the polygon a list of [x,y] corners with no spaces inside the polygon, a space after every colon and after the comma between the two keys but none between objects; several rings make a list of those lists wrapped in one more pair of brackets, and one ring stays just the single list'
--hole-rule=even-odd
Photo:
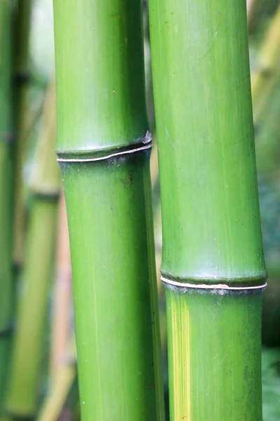
[{"label": "thin dark blurred stalk at upper left, beside the edge-cut green stalk", "polygon": [[29,74],[29,29],[32,0],[18,0],[15,6],[14,72],[15,72],[15,189],[13,222],[13,262],[20,267],[23,261],[25,209],[22,189],[22,165],[25,154],[25,118],[27,116],[27,91]]}]

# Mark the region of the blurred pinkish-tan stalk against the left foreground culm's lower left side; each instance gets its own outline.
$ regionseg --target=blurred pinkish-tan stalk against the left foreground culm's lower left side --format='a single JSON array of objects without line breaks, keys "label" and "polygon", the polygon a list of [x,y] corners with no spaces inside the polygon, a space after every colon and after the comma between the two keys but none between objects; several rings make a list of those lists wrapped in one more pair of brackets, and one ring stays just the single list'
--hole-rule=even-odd
[{"label": "blurred pinkish-tan stalk against the left foreground culm's lower left side", "polygon": [[71,327],[71,258],[64,194],[59,203],[58,221],[57,269],[52,304],[51,382],[55,380],[57,370],[64,362]]}]

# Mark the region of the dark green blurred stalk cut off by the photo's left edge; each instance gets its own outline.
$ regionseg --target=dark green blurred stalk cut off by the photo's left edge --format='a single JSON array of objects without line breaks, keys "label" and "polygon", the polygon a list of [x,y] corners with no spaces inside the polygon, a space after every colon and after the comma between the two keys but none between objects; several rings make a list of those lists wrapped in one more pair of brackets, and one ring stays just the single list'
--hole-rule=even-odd
[{"label": "dark green blurred stalk cut off by the photo's left edge", "polygon": [[11,5],[0,1],[0,411],[10,352],[12,288]]}]

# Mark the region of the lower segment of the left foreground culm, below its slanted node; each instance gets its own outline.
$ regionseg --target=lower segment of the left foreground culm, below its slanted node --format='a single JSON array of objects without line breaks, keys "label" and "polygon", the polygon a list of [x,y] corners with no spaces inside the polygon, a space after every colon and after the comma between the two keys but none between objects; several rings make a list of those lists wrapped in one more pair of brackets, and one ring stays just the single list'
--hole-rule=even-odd
[{"label": "lower segment of the left foreground culm, below its slanted node", "polygon": [[62,168],[82,418],[163,420],[148,154]]}]

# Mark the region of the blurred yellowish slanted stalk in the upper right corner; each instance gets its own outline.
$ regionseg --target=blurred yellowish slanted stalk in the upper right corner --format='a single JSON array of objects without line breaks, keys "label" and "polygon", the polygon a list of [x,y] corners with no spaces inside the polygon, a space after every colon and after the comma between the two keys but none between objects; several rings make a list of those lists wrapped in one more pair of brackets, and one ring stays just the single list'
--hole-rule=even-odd
[{"label": "blurred yellowish slanted stalk in the upper right corner", "polygon": [[280,76],[280,6],[269,25],[252,72],[253,118],[257,124]]}]

